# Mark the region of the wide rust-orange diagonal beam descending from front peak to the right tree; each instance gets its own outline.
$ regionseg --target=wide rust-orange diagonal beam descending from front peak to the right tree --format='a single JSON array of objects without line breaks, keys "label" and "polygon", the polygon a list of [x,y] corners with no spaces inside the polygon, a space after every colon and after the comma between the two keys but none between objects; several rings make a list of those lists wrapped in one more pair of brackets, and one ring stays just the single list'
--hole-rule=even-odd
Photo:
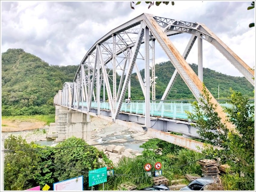
[{"label": "wide rust-orange diagonal beam descending from front peak to the right tree", "polygon": [[[161,30],[161,28],[159,27],[159,25],[155,21],[155,19],[153,17],[148,17],[148,16],[147,16],[147,18],[151,22],[151,24],[155,28],[155,30],[158,32],[158,34],[160,35],[161,39],[164,41],[164,43],[170,49],[172,54],[175,56],[177,61],[180,63],[180,65],[182,66],[183,70],[185,70],[185,72],[188,74],[188,76],[191,79],[191,81],[194,82],[195,86],[198,88],[200,93],[203,94],[202,93],[203,84],[202,84],[201,80],[198,78],[198,76],[195,74],[195,72],[192,70],[192,68],[189,66],[189,64],[185,61],[185,59],[182,57],[180,52],[175,48],[175,46],[172,44],[172,42],[167,37],[167,35]],[[221,118],[221,122],[225,123],[229,130],[234,130],[234,125],[231,124],[230,122],[226,121],[226,113],[223,111],[222,107],[219,105],[219,103],[216,101],[216,99],[213,97],[213,95],[211,94],[211,92],[207,88],[206,88],[206,91],[208,91],[209,96],[211,97],[211,100],[210,100],[211,103],[213,103],[214,105],[216,104],[216,110],[215,111],[218,113],[218,116]]]}]

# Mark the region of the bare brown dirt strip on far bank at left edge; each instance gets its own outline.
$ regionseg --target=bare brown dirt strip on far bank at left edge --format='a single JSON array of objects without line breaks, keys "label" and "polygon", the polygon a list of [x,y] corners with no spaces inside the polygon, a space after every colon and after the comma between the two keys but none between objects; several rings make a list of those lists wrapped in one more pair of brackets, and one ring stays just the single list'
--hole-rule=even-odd
[{"label": "bare brown dirt strip on far bank at left edge", "polygon": [[43,128],[45,122],[24,122],[20,120],[2,120],[2,132],[25,131]]}]

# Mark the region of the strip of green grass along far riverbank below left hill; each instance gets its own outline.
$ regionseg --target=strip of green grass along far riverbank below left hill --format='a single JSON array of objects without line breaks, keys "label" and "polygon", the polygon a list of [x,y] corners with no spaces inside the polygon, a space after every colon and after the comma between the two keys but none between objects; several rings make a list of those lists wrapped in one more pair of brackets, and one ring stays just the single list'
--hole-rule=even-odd
[{"label": "strip of green grass along far riverbank below left hill", "polygon": [[4,120],[20,120],[23,122],[45,122],[46,125],[55,122],[55,114],[50,115],[22,115],[22,116],[2,116]]}]

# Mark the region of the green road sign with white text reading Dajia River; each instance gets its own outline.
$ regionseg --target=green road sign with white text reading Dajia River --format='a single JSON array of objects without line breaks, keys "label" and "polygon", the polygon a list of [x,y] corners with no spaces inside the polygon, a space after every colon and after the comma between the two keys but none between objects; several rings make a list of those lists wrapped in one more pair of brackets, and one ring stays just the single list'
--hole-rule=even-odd
[{"label": "green road sign with white text reading Dajia River", "polygon": [[89,187],[107,182],[107,167],[89,171]]}]

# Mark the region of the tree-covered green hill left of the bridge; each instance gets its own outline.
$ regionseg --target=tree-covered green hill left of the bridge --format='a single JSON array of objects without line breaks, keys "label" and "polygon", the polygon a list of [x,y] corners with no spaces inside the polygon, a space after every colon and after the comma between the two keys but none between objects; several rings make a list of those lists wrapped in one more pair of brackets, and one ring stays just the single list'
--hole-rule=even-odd
[{"label": "tree-covered green hill left of the bridge", "polygon": [[2,53],[2,115],[54,113],[53,97],[78,66],[49,65],[23,49]]}]

